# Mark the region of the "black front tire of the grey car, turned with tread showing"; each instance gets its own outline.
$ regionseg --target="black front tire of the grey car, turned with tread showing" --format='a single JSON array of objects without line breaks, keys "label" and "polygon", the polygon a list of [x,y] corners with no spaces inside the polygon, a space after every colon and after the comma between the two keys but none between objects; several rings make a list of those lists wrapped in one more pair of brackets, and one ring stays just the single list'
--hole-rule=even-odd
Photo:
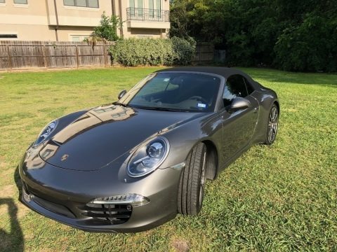
[{"label": "black front tire of the grey car, turned with tread showing", "polygon": [[178,189],[178,213],[197,215],[204,200],[204,182],[206,171],[206,145],[194,146],[180,176]]}]

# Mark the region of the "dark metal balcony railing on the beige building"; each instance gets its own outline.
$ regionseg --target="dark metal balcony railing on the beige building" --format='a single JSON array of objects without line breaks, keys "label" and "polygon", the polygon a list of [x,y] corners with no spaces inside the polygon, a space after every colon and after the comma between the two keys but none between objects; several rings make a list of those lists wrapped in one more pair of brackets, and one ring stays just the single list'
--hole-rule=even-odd
[{"label": "dark metal balcony railing on the beige building", "polygon": [[170,22],[169,10],[156,10],[145,8],[126,8],[127,20]]}]

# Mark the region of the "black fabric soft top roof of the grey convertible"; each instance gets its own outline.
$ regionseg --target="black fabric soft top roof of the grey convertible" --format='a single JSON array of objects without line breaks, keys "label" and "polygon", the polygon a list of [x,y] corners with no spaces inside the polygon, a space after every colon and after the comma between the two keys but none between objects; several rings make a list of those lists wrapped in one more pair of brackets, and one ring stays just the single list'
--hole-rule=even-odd
[{"label": "black fabric soft top roof of the grey convertible", "polygon": [[225,79],[229,78],[232,75],[239,74],[241,76],[244,76],[251,85],[253,85],[255,90],[260,90],[261,88],[264,88],[260,83],[256,82],[249,76],[248,74],[244,73],[243,71],[239,69],[234,69],[230,67],[220,67],[220,66],[185,66],[185,67],[173,67],[173,68],[167,68],[167,69],[161,69],[156,71],[156,73],[159,72],[166,72],[166,71],[193,71],[193,72],[199,72],[199,73],[213,73],[217,74],[219,76],[223,76]]}]

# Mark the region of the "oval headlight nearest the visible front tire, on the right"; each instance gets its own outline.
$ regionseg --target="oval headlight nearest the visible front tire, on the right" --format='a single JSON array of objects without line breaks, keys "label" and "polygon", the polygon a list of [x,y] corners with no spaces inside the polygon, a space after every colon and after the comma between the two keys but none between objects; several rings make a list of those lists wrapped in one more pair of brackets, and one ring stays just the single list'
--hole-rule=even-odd
[{"label": "oval headlight nearest the visible front tire, on the right", "polygon": [[169,141],[158,137],[140,147],[128,162],[128,176],[139,177],[153,172],[169,154]]}]

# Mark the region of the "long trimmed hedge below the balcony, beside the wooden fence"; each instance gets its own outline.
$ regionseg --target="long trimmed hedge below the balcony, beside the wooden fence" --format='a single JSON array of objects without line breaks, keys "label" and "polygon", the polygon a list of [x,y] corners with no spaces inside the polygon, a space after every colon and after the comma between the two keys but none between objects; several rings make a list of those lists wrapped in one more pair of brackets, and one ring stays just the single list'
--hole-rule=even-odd
[{"label": "long trimmed hedge below the balcony, beside the wooden fence", "polygon": [[182,38],[127,38],[112,45],[110,54],[123,66],[188,64],[194,47]]}]

